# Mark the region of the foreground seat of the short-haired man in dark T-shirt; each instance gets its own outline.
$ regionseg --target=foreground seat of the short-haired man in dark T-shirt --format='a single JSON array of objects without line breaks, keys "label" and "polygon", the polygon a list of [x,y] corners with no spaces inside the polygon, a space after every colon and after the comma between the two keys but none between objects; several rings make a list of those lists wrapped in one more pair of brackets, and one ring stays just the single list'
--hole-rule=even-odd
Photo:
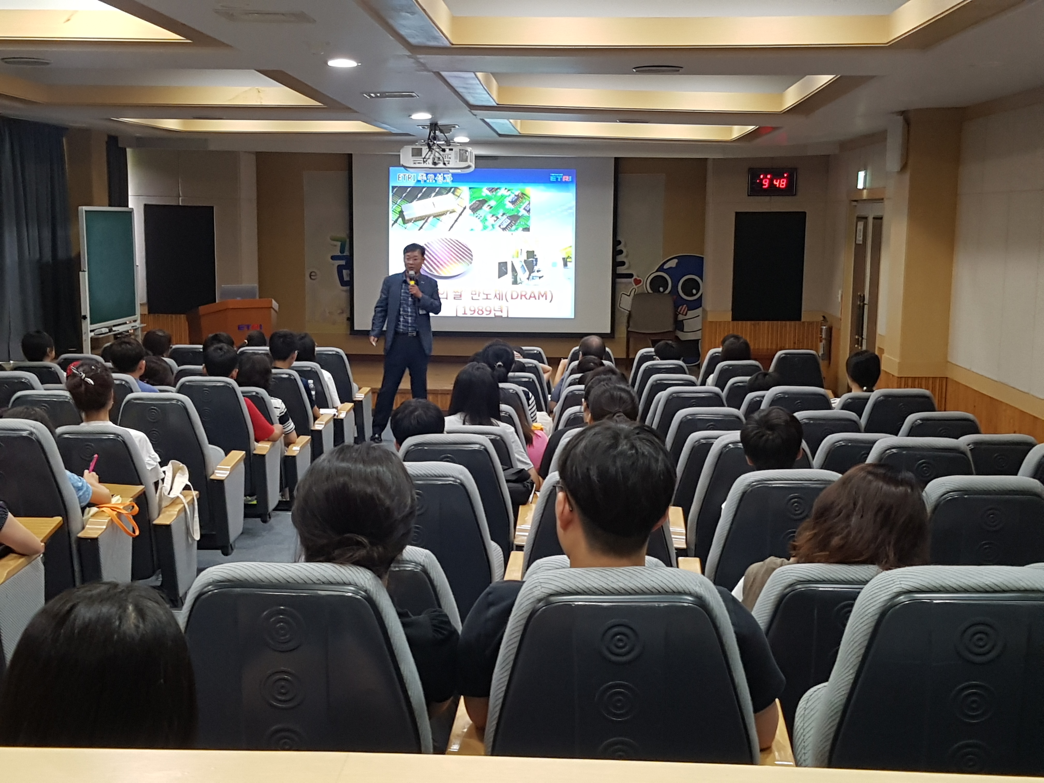
[{"label": "foreground seat of the short-haired man in dark T-shirt", "polygon": [[682,569],[533,572],[494,670],[485,752],[754,763],[734,638],[717,591]]}]

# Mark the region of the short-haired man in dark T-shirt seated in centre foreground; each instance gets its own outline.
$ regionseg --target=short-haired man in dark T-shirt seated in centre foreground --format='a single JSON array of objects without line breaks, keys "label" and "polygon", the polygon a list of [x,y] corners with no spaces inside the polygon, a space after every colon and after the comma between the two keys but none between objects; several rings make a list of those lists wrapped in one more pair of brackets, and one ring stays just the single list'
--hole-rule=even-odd
[{"label": "short-haired man in dark T-shirt seated in centre foreground", "polygon": [[[659,435],[640,424],[599,422],[572,437],[560,458],[554,505],[559,542],[570,568],[645,565],[649,533],[667,523],[674,465]],[[625,580],[626,574],[620,578]],[[485,728],[490,685],[521,582],[487,588],[460,632],[458,685],[476,728]],[[761,748],[772,744],[783,674],[757,621],[723,588],[736,633]]]}]

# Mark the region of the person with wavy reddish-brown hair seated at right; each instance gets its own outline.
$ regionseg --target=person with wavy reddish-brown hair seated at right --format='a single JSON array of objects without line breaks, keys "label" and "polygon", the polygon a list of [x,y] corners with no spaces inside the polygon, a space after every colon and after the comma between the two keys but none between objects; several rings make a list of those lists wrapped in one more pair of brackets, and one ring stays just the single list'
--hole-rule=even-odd
[{"label": "person with wavy reddish-brown hair seated at right", "polygon": [[928,564],[928,512],[912,474],[857,465],[825,489],[798,528],[790,559],[746,569],[733,595],[754,609],[773,572],[791,563],[870,564],[882,571]]}]

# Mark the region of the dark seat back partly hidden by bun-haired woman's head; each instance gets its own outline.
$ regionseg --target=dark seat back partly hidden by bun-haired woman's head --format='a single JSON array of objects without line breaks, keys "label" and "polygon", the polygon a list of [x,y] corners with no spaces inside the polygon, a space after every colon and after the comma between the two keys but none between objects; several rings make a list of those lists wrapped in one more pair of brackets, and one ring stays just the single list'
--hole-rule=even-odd
[{"label": "dark seat back partly hidden by bun-haired woman's head", "polygon": [[504,577],[503,549],[490,537],[479,487],[460,465],[407,458],[406,470],[417,491],[411,543],[438,561],[456,611],[467,617],[482,591]]}]

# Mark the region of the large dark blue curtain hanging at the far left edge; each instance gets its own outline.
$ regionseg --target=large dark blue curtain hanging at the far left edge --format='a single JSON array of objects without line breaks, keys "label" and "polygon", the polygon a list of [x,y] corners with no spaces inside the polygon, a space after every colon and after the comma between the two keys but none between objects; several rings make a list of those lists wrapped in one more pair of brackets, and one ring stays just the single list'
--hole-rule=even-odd
[{"label": "large dark blue curtain hanging at the far left edge", "polygon": [[22,335],[33,329],[58,353],[78,350],[65,134],[0,117],[0,359],[21,359]]}]

